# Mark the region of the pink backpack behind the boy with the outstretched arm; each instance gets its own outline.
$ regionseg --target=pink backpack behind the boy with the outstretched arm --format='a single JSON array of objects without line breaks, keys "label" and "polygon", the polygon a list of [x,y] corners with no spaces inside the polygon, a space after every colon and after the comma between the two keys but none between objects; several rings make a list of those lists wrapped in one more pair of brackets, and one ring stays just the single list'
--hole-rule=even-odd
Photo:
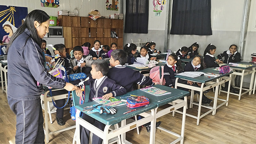
[{"label": "pink backpack behind the boy with the outstretched arm", "polygon": [[163,66],[153,67],[149,72],[149,77],[152,79],[155,85],[165,85],[165,80],[163,79]]}]

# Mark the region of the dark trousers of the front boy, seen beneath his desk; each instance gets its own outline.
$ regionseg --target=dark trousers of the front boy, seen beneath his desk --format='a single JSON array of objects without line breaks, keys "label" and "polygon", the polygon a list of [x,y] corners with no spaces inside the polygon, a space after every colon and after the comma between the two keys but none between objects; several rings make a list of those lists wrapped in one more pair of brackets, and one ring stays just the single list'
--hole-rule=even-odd
[{"label": "dark trousers of the front boy, seen beneath his desk", "polygon": [[[89,122],[90,124],[93,124],[95,127],[101,129],[102,131],[105,128],[105,124],[95,120],[94,118],[88,116],[87,114],[83,114],[82,117],[84,120],[86,120],[87,122]],[[89,137],[90,137],[90,131],[88,131],[88,129],[82,127],[80,125],[80,140],[81,140],[81,144],[89,144]],[[92,144],[102,144],[102,139],[99,138],[98,136],[93,134],[93,141]]]}]

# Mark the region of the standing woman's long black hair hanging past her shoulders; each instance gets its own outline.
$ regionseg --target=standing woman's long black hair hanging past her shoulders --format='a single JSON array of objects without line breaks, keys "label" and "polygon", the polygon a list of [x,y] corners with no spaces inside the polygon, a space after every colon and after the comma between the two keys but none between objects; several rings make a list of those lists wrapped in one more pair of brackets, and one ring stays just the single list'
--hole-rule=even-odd
[{"label": "standing woman's long black hair hanging past her shoulders", "polygon": [[[37,44],[38,46],[41,46],[42,40],[41,38],[38,36],[37,34],[37,29],[34,26],[34,22],[37,21],[40,25],[44,22],[46,22],[47,20],[50,19],[50,16],[47,15],[46,12],[39,10],[39,9],[35,9],[33,11],[31,11],[25,18],[24,23],[16,30],[16,32],[12,35],[12,38],[10,40],[10,42],[8,43],[7,49],[6,51],[8,52],[10,46],[12,45],[12,43],[14,42],[14,40],[20,35],[22,34],[25,29],[27,28],[30,32],[29,38],[32,38]],[[39,25],[39,26],[40,26]],[[39,27],[38,26],[38,27]],[[27,40],[24,44],[24,46],[27,43]],[[23,47],[24,47],[23,46]]]}]

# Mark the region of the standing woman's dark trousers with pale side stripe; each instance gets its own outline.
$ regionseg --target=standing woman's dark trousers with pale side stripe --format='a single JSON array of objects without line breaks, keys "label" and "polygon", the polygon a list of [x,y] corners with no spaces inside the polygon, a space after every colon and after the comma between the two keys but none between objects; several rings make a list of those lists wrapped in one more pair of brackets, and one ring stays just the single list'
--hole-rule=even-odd
[{"label": "standing woman's dark trousers with pale side stripe", "polygon": [[44,117],[40,98],[32,101],[20,101],[7,97],[7,100],[16,115],[15,143],[45,143]]}]

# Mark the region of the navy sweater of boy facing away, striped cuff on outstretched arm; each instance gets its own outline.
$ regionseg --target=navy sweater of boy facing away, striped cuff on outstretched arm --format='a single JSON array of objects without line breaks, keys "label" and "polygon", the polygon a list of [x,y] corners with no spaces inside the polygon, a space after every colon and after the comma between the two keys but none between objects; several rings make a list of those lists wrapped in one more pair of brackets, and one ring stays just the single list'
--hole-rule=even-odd
[{"label": "navy sweater of boy facing away, striped cuff on outstretched arm", "polygon": [[146,77],[140,74],[139,71],[121,65],[109,69],[108,77],[116,81],[118,85],[123,86],[127,92],[132,91],[133,83],[146,86],[154,85],[150,77]]}]

